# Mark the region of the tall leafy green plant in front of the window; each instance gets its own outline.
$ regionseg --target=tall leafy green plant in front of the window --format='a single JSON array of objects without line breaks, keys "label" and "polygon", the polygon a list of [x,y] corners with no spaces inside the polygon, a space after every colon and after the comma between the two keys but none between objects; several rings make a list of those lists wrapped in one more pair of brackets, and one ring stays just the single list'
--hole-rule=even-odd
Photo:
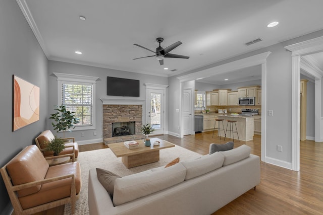
[{"label": "tall leafy green plant in front of the window", "polygon": [[74,129],[74,124],[79,123],[80,119],[75,117],[75,112],[66,110],[65,105],[55,106],[57,108],[54,108],[54,110],[57,110],[57,112],[50,114],[49,119],[53,119],[55,121],[55,123],[51,122],[54,130],[57,130],[57,132],[63,130],[63,137],[65,138],[65,131],[71,132],[72,130],[70,130],[70,128]]}]

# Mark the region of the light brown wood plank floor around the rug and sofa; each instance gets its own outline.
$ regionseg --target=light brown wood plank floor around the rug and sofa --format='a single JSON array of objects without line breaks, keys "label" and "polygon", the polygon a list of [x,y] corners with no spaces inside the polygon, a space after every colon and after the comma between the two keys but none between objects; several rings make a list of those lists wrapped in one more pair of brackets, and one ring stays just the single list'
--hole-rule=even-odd
[{"label": "light brown wood plank floor around the rug and sofa", "polygon": [[[209,144],[225,143],[212,131],[178,138],[156,136],[173,144],[205,155]],[[251,141],[234,141],[235,148],[246,144],[251,153],[260,156],[260,135]],[[80,145],[79,151],[106,148],[104,144]],[[213,214],[323,214],[323,143],[301,141],[300,171],[295,172],[261,162],[261,182],[256,190],[249,190]],[[225,182],[224,182],[225,183]],[[216,186],[216,185],[214,185]],[[63,208],[64,210],[64,208]],[[38,214],[63,214],[62,207]]]}]

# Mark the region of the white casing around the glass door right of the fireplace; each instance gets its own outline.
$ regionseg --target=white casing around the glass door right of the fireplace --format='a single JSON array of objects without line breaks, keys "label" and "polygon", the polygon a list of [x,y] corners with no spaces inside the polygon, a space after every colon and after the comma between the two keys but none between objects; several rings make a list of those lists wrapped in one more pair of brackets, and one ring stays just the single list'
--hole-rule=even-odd
[{"label": "white casing around the glass door right of the fireplace", "polygon": [[165,134],[165,131],[167,130],[167,121],[166,121],[166,119],[167,119],[167,111],[166,111],[166,107],[167,107],[167,94],[166,94],[166,89],[168,88],[168,85],[159,85],[159,84],[150,84],[150,83],[145,83],[144,84],[145,86],[146,86],[146,121],[148,120],[148,111],[150,110],[150,107],[149,107],[149,93],[148,93],[148,91],[149,90],[161,90],[161,91],[163,91],[163,93],[164,93],[164,99],[163,99],[163,101],[161,101],[164,105],[164,114],[163,114],[163,116],[161,116],[161,117],[163,117],[163,122],[164,122],[164,128],[160,128],[160,129],[163,129],[163,134]]}]

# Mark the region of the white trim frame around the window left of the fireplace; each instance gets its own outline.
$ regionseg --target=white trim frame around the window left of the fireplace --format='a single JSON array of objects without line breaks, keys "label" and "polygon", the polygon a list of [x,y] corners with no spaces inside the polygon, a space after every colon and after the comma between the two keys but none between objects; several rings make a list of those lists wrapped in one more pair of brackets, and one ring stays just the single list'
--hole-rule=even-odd
[{"label": "white trim frame around the window left of the fireplace", "polygon": [[92,85],[92,125],[77,126],[73,130],[90,130],[96,128],[96,81],[98,77],[81,76],[72,74],[53,73],[57,77],[57,104],[62,105],[62,84],[89,84]]}]

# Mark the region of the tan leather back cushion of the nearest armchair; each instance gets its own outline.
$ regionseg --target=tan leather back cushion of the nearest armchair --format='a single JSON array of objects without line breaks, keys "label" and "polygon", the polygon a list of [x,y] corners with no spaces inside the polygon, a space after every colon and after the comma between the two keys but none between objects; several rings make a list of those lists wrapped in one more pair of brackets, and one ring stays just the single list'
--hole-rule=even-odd
[{"label": "tan leather back cushion of the nearest armchair", "polygon": [[[45,178],[49,165],[36,145],[23,149],[7,165],[7,171],[13,185],[38,181]],[[36,193],[41,185],[18,190],[18,196],[26,196]]]}]

